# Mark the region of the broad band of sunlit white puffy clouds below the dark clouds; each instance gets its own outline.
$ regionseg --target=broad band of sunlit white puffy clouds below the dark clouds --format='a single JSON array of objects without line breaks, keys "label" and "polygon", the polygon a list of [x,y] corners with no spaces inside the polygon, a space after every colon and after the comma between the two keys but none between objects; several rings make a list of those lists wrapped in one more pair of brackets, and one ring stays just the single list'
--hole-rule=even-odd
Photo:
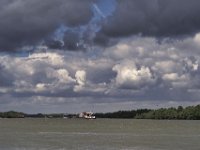
[{"label": "broad band of sunlit white puffy clouds below the dark clouds", "polygon": [[197,100],[200,57],[196,49],[181,49],[193,45],[186,43],[194,39],[158,44],[153,38],[130,37],[92,52],[0,55],[0,94],[40,97],[40,102],[50,98],[48,105],[60,104],[60,99],[63,103]]}]

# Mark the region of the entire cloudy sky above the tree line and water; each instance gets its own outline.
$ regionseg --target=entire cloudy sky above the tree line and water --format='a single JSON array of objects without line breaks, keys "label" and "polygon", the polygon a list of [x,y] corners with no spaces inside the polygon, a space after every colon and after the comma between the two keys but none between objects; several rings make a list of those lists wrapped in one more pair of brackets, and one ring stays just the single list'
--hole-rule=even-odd
[{"label": "entire cloudy sky above the tree line and water", "polygon": [[200,103],[199,0],[1,0],[0,111]]}]

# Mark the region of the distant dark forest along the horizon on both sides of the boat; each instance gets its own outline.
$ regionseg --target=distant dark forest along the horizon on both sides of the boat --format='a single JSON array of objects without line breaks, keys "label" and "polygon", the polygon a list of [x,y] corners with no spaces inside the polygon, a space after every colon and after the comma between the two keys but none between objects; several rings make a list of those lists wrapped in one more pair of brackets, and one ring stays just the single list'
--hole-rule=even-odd
[{"label": "distant dark forest along the horizon on both sides of the boat", "polygon": [[[110,113],[96,113],[96,118],[125,119],[168,119],[168,120],[200,120],[200,105],[183,108],[138,109]],[[0,112],[0,118],[76,118],[78,114],[25,114],[22,112]]]}]

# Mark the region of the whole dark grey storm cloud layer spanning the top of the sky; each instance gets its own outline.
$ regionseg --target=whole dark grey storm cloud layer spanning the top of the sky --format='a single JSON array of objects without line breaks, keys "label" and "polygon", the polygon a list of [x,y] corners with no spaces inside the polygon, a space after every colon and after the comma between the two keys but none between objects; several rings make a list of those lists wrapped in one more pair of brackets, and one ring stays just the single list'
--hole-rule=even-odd
[{"label": "whole dark grey storm cloud layer spanning the top of the sky", "polygon": [[[199,0],[116,0],[113,14],[103,18],[106,12],[98,8],[98,3],[92,9],[95,2],[1,0],[0,51],[41,42],[51,49],[80,50],[91,45],[111,46],[118,37],[129,35],[179,37],[200,29]],[[62,25],[69,30],[63,31],[64,37],[59,40],[54,33]],[[73,31],[73,27],[83,25],[84,31]]]}]

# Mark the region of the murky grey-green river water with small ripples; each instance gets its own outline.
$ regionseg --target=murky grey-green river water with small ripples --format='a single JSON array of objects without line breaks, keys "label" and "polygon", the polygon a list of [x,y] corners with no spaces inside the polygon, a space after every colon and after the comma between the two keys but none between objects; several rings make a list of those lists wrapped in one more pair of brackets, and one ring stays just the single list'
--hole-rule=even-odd
[{"label": "murky grey-green river water with small ripples", "polygon": [[200,150],[200,121],[0,119],[0,150]]}]

